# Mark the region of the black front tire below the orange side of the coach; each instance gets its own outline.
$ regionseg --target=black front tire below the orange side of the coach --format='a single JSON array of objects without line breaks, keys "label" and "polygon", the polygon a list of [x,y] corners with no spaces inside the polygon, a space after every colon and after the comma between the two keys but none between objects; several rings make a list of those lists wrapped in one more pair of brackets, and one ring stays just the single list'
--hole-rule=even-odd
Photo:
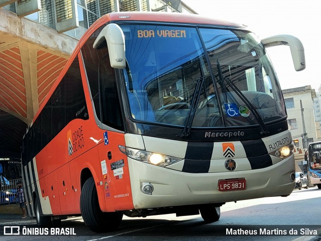
[{"label": "black front tire below the orange side of the coach", "polygon": [[122,219],[122,213],[101,211],[93,177],[87,179],[81,189],[80,211],[86,225],[94,232],[113,231]]}]

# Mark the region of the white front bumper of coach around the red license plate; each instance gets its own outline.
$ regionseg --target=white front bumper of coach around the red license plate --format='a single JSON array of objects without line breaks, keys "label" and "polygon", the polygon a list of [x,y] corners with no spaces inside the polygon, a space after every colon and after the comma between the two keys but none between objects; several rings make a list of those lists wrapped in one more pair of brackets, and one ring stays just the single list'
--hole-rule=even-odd
[{"label": "white front bumper of coach around the red license plate", "polygon": [[[205,203],[221,203],[268,196],[289,195],[295,186],[294,156],[269,167],[244,171],[187,173],[128,158],[135,209]],[[245,178],[245,190],[219,191],[220,179]],[[151,195],[141,191],[141,183],[153,186]]]}]

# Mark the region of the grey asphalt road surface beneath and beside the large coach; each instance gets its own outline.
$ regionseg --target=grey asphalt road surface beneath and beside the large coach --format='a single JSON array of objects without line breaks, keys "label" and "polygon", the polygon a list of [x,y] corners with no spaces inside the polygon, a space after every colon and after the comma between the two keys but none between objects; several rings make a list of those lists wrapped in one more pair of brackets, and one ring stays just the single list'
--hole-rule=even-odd
[{"label": "grey asphalt road surface beneath and beside the large coach", "polygon": [[[319,219],[321,190],[294,190],[288,197],[268,197],[231,202],[221,207],[221,218],[215,223],[204,223],[200,215],[176,217],[175,214],[124,217],[114,232],[96,234],[90,231],[81,217],[62,221],[63,227],[75,228],[76,235],[46,236],[46,240],[321,240]],[[6,216],[5,216],[6,217]],[[34,225],[34,219],[7,216],[0,225]],[[29,227],[29,226],[28,226]],[[264,232],[263,236],[251,233]],[[249,235],[239,235],[244,232]],[[297,235],[289,232],[297,231]],[[229,232],[229,233],[227,233]],[[237,233],[238,232],[238,233]],[[274,232],[281,235],[267,235]],[[286,234],[284,234],[286,232]],[[302,235],[301,232],[308,235]],[[236,234],[235,234],[236,233]],[[0,240],[43,240],[44,236],[0,236]]]}]

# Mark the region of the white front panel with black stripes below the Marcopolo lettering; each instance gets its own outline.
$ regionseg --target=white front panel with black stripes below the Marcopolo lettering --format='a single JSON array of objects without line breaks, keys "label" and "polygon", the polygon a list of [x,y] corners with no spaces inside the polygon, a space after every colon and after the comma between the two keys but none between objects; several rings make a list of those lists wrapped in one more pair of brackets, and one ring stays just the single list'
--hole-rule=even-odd
[{"label": "white front panel with black stripes below the Marcopolo lettering", "polygon": [[[225,161],[229,159],[233,159],[237,163],[234,171],[266,168],[281,161],[280,158],[270,155],[269,152],[288,145],[292,141],[289,131],[261,139],[226,142],[186,143],[176,140],[164,142],[153,137],[143,137],[143,139],[146,150],[166,153],[183,159],[167,168],[188,173],[230,171],[225,167]],[[233,148],[224,150],[224,143],[232,144],[234,151]]]}]

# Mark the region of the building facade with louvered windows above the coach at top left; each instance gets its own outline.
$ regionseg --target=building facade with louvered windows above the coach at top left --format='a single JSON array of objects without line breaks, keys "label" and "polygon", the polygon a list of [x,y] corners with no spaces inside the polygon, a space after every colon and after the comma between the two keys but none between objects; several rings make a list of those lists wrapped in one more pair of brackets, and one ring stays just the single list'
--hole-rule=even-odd
[{"label": "building facade with louvered windows above the coach at top left", "polygon": [[112,12],[197,14],[181,0],[0,0],[0,7],[76,39],[101,16]]}]

